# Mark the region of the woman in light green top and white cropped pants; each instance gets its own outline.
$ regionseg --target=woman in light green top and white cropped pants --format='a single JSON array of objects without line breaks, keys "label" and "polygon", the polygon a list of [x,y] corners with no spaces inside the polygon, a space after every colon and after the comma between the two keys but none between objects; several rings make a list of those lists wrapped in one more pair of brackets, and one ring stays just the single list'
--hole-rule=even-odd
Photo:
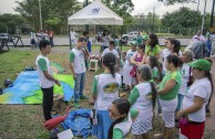
[{"label": "woman in light green top and white cropped pants", "polygon": [[177,93],[182,83],[181,71],[178,70],[180,60],[176,55],[166,57],[166,70],[168,71],[163,77],[157,90],[158,103],[162,108],[162,119],[164,121],[164,131],[162,135],[165,139],[173,139],[175,131],[175,110],[177,107]]}]

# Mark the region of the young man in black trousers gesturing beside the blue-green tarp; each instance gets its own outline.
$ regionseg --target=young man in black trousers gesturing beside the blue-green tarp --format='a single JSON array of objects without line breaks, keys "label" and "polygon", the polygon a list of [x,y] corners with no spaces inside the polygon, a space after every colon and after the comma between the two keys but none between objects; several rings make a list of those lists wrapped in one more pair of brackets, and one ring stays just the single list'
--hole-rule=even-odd
[{"label": "young man in black trousers gesturing beside the blue-green tarp", "polygon": [[52,71],[50,68],[50,61],[47,57],[51,52],[51,45],[48,40],[41,40],[40,44],[40,55],[38,55],[35,60],[37,71],[39,74],[40,85],[43,94],[42,99],[42,108],[44,119],[51,119],[51,110],[53,106],[53,85],[54,83],[60,86],[60,82],[55,79],[52,75]]}]

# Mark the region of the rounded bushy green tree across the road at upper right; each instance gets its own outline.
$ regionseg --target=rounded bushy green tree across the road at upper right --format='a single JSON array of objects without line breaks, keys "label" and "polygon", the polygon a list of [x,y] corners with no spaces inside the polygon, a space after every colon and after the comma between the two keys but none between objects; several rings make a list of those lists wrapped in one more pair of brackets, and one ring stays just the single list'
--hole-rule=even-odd
[{"label": "rounded bushy green tree across the road at upper right", "polygon": [[172,13],[165,13],[162,19],[163,26],[170,28],[171,32],[176,34],[191,34],[201,29],[201,13],[185,7]]}]

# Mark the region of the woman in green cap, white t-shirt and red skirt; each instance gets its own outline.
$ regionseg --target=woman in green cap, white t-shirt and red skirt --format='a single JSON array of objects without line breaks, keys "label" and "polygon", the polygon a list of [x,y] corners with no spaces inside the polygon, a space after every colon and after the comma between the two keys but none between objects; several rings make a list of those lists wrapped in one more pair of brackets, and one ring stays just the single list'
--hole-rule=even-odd
[{"label": "woman in green cap, white t-shirt and red skirt", "polygon": [[[213,93],[212,62],[199,58],[188,63],[192,67],[194,83],[184,95],[182,110],[177,111],[180,128],[183,136],[188,139],[202,139],[205,127],[205,106]],[[186,122],[185,122],[186,121]]]}]

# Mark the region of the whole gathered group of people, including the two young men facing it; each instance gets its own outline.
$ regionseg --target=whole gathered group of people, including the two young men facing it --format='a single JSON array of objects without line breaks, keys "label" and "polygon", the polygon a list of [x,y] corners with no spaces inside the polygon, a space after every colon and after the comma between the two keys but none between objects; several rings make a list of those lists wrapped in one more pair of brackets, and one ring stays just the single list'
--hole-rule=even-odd
[{"label": "whole gathered group of people, including the two young men facing it", "polygon": [[[88,99],[83,94],[85,61],[89,53],[85,38],[80,38],[69,54],[69,64],[75,81],[74,107],[76,108],[80,108],[80,99]],[[206,58],[193,61],[191,51],[181,51],[178,40],[166,39],[165,41],[166,49],[160,53],[157,35],[150,33],[143,43],[134,41],[126,53],[119,54],[114,50],[114,41],[108,43],[104,39],[101,54],[104,73],[94,76],[92,87],[98,120],[93,126],[93,135],[99,139],[122,139],[130,129],[135,138],[150,138],[149,131],[153,128],[156,105],[161,106],[163,138],[174,138],[177,119],[184,137],[202,139],[206,105],[213,93],[209,73],[212,61]],[[50,49],[49,42],[41,41],[41,54],[35,61],[43,92],[45,120],[51,118],[53,84],[60,85],[59,81],[51,75],[47,57]],[[163,58],[163,65],[158,62],[160,57]],[[120,98],[122,84],[125,85],[124,89],[131,90],[129,98]]]}]

